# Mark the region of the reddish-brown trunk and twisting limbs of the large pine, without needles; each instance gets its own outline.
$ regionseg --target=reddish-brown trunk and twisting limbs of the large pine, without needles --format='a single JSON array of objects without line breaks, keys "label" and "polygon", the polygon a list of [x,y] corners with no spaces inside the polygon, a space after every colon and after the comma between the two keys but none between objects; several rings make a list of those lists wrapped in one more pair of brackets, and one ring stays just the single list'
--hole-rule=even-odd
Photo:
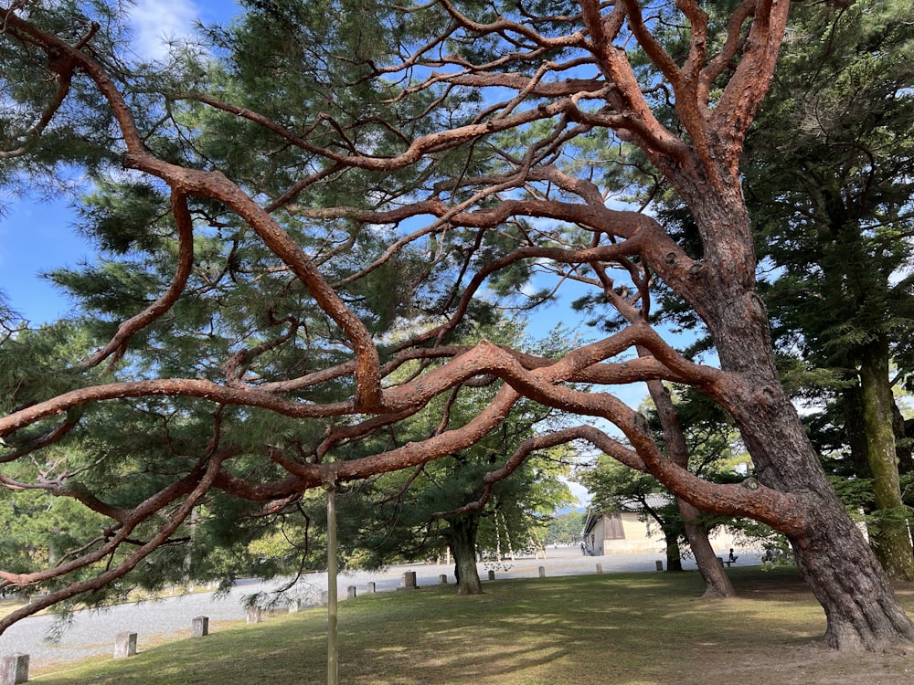
[{"label": "reddish-brown trunk and twisting limbs of the large pine, without needles", "polygon": [[[312,142],[305,133],[289,131],[260,112],[233,106],[211,95],[193,96],[201,106],[243,118],[268,130],[290,147],[314,158],[323,158],[335,174],[343,174],[345,169],[396,172],[424,161],[432,153],[456,150],[468,142],[497,144],[492,136],[499,132],[522,129],[534,123],[544,128],[555,127],[553,134],[541,141],[541,147],[531,145],[529,150],[506,151],[502,161],[511,168],[505,174],[482,178],[462,175],[452,183],[431,187],[427,195],[417,198],[413,204],[404,203],[377,213],[347,207],[296,208],[303,216],[309,216],[310,212],[314,217],[347,217],[356,224],[433,217],[426,227],[404,232],[388,254],[365,265],[351,279],[362,278],[377,269],[397,249],[412,247],[422,239],[431,238],[432,242],[443,239],[451,227],[478,229],[477,244],[467,247],[471,254],[478,249],[484,231],[498,229],[514,221],[515,217],[554,219],[590,231],[589,246],[562,245],[560,240],[550,239],[548,246],[541,247],[527,234],[524,240],[518,240],[513,251],[488,260],[476,273],[469,272],[471,261],[464,258],[461,278],[453,284],[453,306],[445,312],[446,321],[402,342],[392,359],[383,365],[376,341],[366,325],[334,285],[324,278],[321,265],[310,258],[271,215],[282,202],[292,200],[303,187],[326,178],[326,174],[304,176],[284,189],[282,202],[276,199],[264,206],[246,195],[239,183],[221,171],[184,168],[157,158],[146,148],[143,133],[137,129],[128,100],[118,84],[102,67],[102,62],[95,59],[89,49],[84,49],[91,34],[77,44],[69,45],[31,25],[20,5],[0,7],[5,17],[3,39],[25,46],[23,49],[44,50],[48,54],[49,68],[57,65],[58,73],[62,69],[67,74],[79,73],[80,78],[90,79],[107,100],[120,127],[127,148],[122,155],[124,166],[160,179],[172,189],[174,197],[175,220],[182,233],[182,259],[171,287],[154,305],[125,321],[112,341],[90,359],[89,365],[129,349],[133,335],[151,321],[159,320],[182,296],[186,269],[193,258],[192,243],[186,235],[191,228],[186,216],[186,199],[192,197],[215,201],[250,227],[263,245],[281,260],[283,272],[297,279],[329,320],[335,322],[345,338],[345,346],[352,352],[344,364],[262,385],[246,384],[236,372],[243,366],[242,362],[247,364],[253,355],[269,345],[220,360],[227,364],[225,368],[229,372],[229,382],[225,385],[196,378],[154,377],[133,383],[89,385],[0,417],[0,436],[13,436],[16,431],[53,419],[74,407],[155,395],[197,398],[217,406],[260,407],[283,416],[341,419],[342,425],[329,427],[321,442],[311,446],[312,451],[305,458],[300,454],[283,454],[272,446],[261,448],[260,453],[286,469],[288,477],[273,482],[247,481],[220,470],[218,459],[213,458],[192,477],[177,478],[173,487],[162,490],[154,500],[165,506],[176,498],[185,498],[175,516],[169,518],[160,534],[155,536],[154,541],[161,543],[174,532],[189,511],[188,507],[207,487],[220,488],[249,500],[282,501],[308,488],[420,466],[431,459],[453,454],[484,437],[499,426],[517,399],[526,395],[570,413],[599,416],[618,427],[628,445],[597,428],[585,426],[569,429],[562,438],[588,440],[632,468],[649,470],[684,502],[684,513],[693,513],[690,507],[694,507],[749,516],[786,533],[803,574],[824,606],[829,644],[839,648],[877,649],[914,640],[914,628],[898,605],[863,537],[846,517],[824,479],[799,417],[778,381],[767,314],[755,292],[753,237],[741,197],[739,156],[743,136],[771,79],[787,20],[788,3],[785,0],[745,0],[730,17],[728,33],[721,45],[719,41],[708,39],[708,19],[701,7],[694,0],[680,0],[675,6],[683,14],[683,25],[690,26],[691,30],[682,64],[667,54],[652,35],[654,18],[642,16],[641,5],[635,0],[619,0],[611,5],[598,0],[580,0],[579,5],[580,21],[576,24],[569,19],[569,31],[565,35],[557,32],[551,37],[539,35],[536,22],[525,24],[498,17],[491,23],[482,24],[462,15],[459,8],[449,2],[430,5],[429,11],[439,8],[447,11],[452,25],[461,26],[468,35],[500,37],[511,41],[513,46],[512,57],[505,58],[505,64],[496,62],[485,68],[454,74],[452,85],[458,87],[473,79],[474,87],[515,89],[517,97],[493,107],[492,111],[480,112],[476,119],[464,125],[414,139],[404,136],[403,148],[386,157],[370,151],[361,152],[349,145],[328,148]],[[664,79],[664,88],[668,89],[664,102],[675,104],[677,123],[683,135],[664,126],[654,114],[648,95],[641,90],[626,51],[632,39]],[[445,42],[444,37],[432,37],[430,45],[443,51]],[[528,50],[527,54],[522,46]],[[721,46],[716,53],[712,52],[714,46]],[[599,74],[599,83],[565,79],[568,74],[555,68],[553,75],[561,85],[547,85],[549,79],[543,77],[547,69],[555,65],[543,64],[543,56],[547,54],[543,50],[558,47],[576,50],[583,60],[581,63]],[[417,55],[408,62],[411,65],[419,58]],[[463,64],[465,60],[462,60],[455,58],[453,63]],[[523,68],[515,70],[515,64]],[[379,73],[384,73],[384,69]],[[520,76],[534,70],[535,77]],[[447,75],[437,74],[414,88],[430,89],[447,79]],[[713,100],[712,92],[716,90],[712,89],[719,89]],[[57,115],[58,100],[66,98],[68,92],[66,88],[58,90],[57,103],[48,106],[48,119]],[[519,106],[526,99],[541,98],[548,100],[539,100],[537,106]],[[584,106],[593,102],[599,102],[600,107]],[[315,121],[314,128],[320,123]],[[572,129],[572,125],[576,128]],[[47,121],[41,130],[46,126]],[[702,240],[701,258],[690,258],[654,218],[607,208],[606,193],[611,189],[600,188],[589,176],[572,178],[558,167],[558,161],[553,162],[564,154],[561,142],[571,135],[569,132],[582,134],[599,128],[611,129],[621,141],[636,143],[664,176],[664,183],[685,200]],[[303,131],[313,130],[303,127]],[[311,168],[311,163],[305,166]],[[531,191],[526,198],[512,193],[506,193],[504,197],[499,195],[502,190],[537,187],[536,184],[548,184],[550,188],[558,188],[561,194],[544,193],[541,196]],[[473,195],[473,202],[454,204],[454,195],[442,189],[444,186],[466,190]],[[484,206],[480,208],[480,205]],[[600,289],[609,303],[626,315],[630,325],[603,340],[581,345],[558,360],[537,360],[487,341],[480,341],[470,349],[441,348],[428,352],[456,329],[471,300],[483,288],[485,279],[520,260],[549,260],[563,278],[577,279]],[[430,269],[435,265],[432,258]],[[617,284],[610,275],[611,269],[627,270],[636,283],[635,292],[620,290],[615,294]],[[663,279],[704,321],[714,339],[719,369],[685,359],[651,328],[651,283],[655,278]],[[637,315],[628,317],[630,309]],[[282,344],[283,337],[277,335],[272,340]],[[422,351],[416,348],[422,348]],[[624,355],[633,350],[643,353],[643,358],[625,359]],[[434,368],[423,368],[406,382],[388,382],[388,374],[405,361],[432,356],[450,361]],[[504,381],[504,387],[494,401],[465,426],[442,430],[420,443],[396,445],[364,458],[350,461],[327,458],[336,447],[390,427],[418,412],[432,398],[476,382],[480,376],[499,378]],[[347,399],[308,404],[292,395],[296,389],[344,377],[351,377],[356,388]],[[718,486],[696,478],[684,468],[685,462],[678,452],[671,459],[657,448],[653,436],[639,423],[639,416],[631,407],[612,395],[611,390],[599,387],[660,380],[694,385],[728,410],[749,449],[760,487]],[[579,383],[597,386],[584,392],[572,385]],[[65,431],[52,430],[48,435],[60,432]],[[37,441],[32,447],[40,448],[42,444]],[[23,452],[16,451],[16,454]],[[523,450],[515,457],[523,458]],[[515,464],[516,460],[508,459],[503,469],[493,470],[490,478],[507,475]],[[84,501],[90,500],[85,498]],[[96,504],[96,509],[103,508],[103,502]],[[112,513],[122,516],[119,512]],[[135,525],[140,515],[140,512],[132,511],[123,519],[124,530]],[[115,539],[121,540],[122,536],[115,536]],[[707,549],[700,543],[698,547],[700,552],[696,550],[696,553],[701,555],[703,574],[707,572],[706,581],[711,578],[709,585],[723,580],[722,571],[718,574],[717,566],[708,562]],[[148,545],[143,547],[143,550],[147,549]],[[112,572],[114,575],[102,574],[88,585],[70,585],[61,591],[63,595],[54,596],[69,597],[98,587],[118,577],[116,574],[126,573],[140,558],[142,556],[131,555]],[[726,586],[720,587],[722,589],[718,591],[726,594]],[[18,615],[0,623],[0,629],[16,617]]]}]

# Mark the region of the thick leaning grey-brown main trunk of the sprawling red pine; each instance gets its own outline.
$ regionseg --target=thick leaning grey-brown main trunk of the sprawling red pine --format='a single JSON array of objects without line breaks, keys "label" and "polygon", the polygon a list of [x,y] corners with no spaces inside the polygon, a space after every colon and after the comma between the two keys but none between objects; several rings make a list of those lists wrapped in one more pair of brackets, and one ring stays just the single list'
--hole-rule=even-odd
[{"label": "thick leaning grey-brown main trunk of the sprawling red pine", "polygon": [[[709,179],[707,184],[713,185]],[[914,641],[914,626],[863,534],[834,494],[774,364],[768,313],[755,291],[755,254],[739,183],[716,199],[692,190],[705,238],[694,302],[727,373],[707,390],[734,417],[759,482],[789,493],[800,518],[785,530],[797,563],[827,618],[834,648],[880,649]],[[683,190],[684,188],[681,188]],[[685,188],[688,191],[688,188]],[[697,200],[697,201],[696,201]],[[686,494],[686,493],[682,493]]]}]

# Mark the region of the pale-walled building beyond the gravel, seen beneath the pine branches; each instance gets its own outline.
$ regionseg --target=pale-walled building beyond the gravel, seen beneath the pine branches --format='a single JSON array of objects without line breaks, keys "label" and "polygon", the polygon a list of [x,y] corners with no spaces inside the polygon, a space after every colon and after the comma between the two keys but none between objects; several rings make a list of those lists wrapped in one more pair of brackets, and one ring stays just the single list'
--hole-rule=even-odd
[{"label": "pale-walled building beyond the gravel, seen beneath the pine branches", "polygon": [[[667,495],[648,495],[648,505],[660,508],[671,499]],[[623,501],[615,511],[588,511],[581,533],[584,553],[611,554],[658,553],[664,550],[664,533],[654,520],[646,519],[639,501]],[[718,527],[710,538],[718,552],[735,546],[733,533]]]}]

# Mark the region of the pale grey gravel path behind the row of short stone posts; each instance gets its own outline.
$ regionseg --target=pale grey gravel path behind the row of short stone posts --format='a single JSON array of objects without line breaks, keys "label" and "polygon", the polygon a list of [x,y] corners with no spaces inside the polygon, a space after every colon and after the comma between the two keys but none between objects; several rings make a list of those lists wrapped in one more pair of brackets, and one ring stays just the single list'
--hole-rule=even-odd
[{"label": "pale grey gravel path behind the row of short stone posts", "polygon": [[[656,562],[664,559],[662,553],[626,554],[619,556],[581,556],[577,548],[560,547],[547,550],[547,559],[518,559],[505,562],[506,568],[495,569],[497,578],[537,577],[539,566],[547,575],[592,574],[596,564],[603,573],[620,571],[655,571]],[[760,564],[758,554],[741,551],[739,565]],[[684,565],[689,567],[689,561]],[[695,564],[692,563],[694,568]],[[376,584],[377,592],[386,592],[399,587],[405,571],[415,571],[418,585],[437,585],[441,574],[448,575],[453,583],[453,568],[435,564],[410,564],[394,566],[385,572],[340,575],[337,585],[341,598],[345,598],[347,587],[356,585],[356,593],[366,592],[367,584]],[[488,577],[488,567],[479,565],[483,581]],[[137,649],[143,645],[167,638],[190,636],[191,621],[197,616],[209,617],[210,630],[218,629],[219,622],[243,621],[245,608],[243,598],[256,592],[269,591],[279,585],[249,582],[234,587],[228,595],[198,593],[167,597],[142,604],[113,606],[103,611],[82,611],[75,615],[72,624],[63,633],[58,643],[46,640],[53,626],[54,618],[49,616],[29,617],[10,627],[0,636],[0,656],[15,653],[29,655],[31,669],[40,669],[54,664],[78,661],[90,656],[111,656],[114,638],[118,633],[137,633]],[[312,574],[299,586],[297,593],[306,604],[317,604],[322,591],[326,590],[326,575]]]}]

